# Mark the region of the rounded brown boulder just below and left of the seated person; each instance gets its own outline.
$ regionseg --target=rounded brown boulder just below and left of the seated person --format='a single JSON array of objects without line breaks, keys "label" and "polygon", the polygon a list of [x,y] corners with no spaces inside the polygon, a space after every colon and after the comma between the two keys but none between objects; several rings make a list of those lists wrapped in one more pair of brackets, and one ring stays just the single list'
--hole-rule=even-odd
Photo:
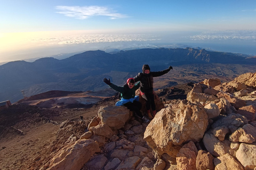
[{"label": "rounded brown boulder just below and left of the seated person", "polygon": [[121,129],[130,120],[130,110],[125,106],[100,107],[98,116],[102,124],[107,124],[112,130]]}]

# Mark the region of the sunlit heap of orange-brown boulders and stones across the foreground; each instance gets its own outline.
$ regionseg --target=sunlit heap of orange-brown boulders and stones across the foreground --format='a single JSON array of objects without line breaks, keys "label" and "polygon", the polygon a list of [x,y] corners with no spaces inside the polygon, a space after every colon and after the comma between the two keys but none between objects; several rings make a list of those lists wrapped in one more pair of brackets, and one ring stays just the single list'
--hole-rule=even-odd
[{"label": "sunlit heap of orange-brown boulders and stones across the foreground", "polygon": [[[256,73],[246,73],[230,82],[205,79],[195,83],[186,99],[182,96],[169,100],[168,94],[166,98],[155,95],[157,114],[147,123],[126,107],[114,106],[115,99],[105,99],[108,103],[92,108],[97,115],[90,121],[67,119],[58,124],[54,139],[42,148],[45,155],[35,154],[33,160],[20,167],[255,169],[255,82]],[[178,91],[171,87],[161,93],[172,90]],[[0,150],[0,166],[15,169],[15,164],[4,165],[5,149]]]}]

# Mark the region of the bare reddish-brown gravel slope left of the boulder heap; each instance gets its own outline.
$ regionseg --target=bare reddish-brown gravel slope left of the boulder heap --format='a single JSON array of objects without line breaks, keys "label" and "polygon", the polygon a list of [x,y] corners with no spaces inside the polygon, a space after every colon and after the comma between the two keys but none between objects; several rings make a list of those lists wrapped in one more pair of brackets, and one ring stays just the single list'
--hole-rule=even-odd
[{"label": "bare reddish-brown gravel slope left of the boulder heap", "polygon": [[[39,169],[51,157],[53,146],[61,148],[71,135],[58,134],[61,122],[78,122],[81,115],[86,129],[99,106],[114,104],[113,98],[82,107],[62,104],[42,108],[21,103],[0,111],[0,169]],[[83,134],[84,129],[78,134]]]}]

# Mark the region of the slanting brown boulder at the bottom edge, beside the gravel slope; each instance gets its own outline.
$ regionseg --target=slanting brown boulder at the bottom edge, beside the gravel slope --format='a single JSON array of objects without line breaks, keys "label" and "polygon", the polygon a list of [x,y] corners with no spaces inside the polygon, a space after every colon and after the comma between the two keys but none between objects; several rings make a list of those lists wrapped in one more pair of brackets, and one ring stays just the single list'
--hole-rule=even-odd
[{"label": "slanting brown boulder at the bottom edge, beside the gravel slope", "polygon": [[99,145],[92,139],[78,140],[74,145],[61,149],[50,161],[48,170],[79,170],[95,152]]}]

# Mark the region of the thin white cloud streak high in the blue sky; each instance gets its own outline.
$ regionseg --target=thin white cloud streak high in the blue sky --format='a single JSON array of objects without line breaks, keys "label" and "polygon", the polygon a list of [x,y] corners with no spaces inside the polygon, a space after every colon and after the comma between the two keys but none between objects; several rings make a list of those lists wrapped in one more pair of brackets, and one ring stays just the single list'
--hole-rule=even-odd
[{"label": "thin white cloud streak high in the blue sky", "polygon": [[87,19],[92,16],[109,16],[110,19],[127,18],[129,16],[115,13],[105,6],[56,6],[60,14],[76,19]]}]

